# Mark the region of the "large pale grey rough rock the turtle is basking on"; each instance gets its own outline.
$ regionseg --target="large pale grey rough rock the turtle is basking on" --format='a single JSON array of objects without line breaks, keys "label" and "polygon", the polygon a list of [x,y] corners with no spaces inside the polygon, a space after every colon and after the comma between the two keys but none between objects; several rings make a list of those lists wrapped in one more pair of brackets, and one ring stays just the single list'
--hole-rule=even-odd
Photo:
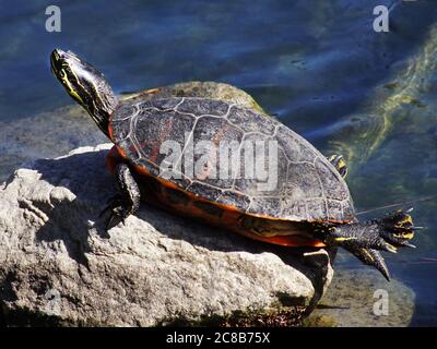
[{"label": "large pale grey rough rock the turtle is basking on", "polygon": [[37,160],[0,186],[3,324],[291,325],[312,310],[333,274],[324,251],[253,242],[147,205],[106,232],[109,146]]}]

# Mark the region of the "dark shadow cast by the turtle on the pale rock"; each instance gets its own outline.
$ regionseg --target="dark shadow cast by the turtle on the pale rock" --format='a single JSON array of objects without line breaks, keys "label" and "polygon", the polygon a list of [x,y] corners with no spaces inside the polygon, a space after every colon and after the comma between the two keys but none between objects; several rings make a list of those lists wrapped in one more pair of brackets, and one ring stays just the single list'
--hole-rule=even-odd
[{"label": "dark shadow cast by the turtle on the pale rock", "polygon": [[[116,191],[114,178],[105,168],[106,154],[106,148],[97,152],[90,148],[90,152],[73,153],[58,159],[37,160],[32,166],[32,169],[40,173],[42,180],[55,186],[50,192],[51,208],[43,209],[48,220],[37,231],[36,239],[39,242],[63,241],[70,257],[84,266],[87,266],[86,253],[93,252],[88,244],[90,231],[96,231],[102,239],[110,238],[110,230],[106,232],[104,227],[104,217],[99,218],[99,213]],[[334,258],[334,250],[328,256],[326,251],[314,253],[316,250],[312,249],[290,249],[261,243],[176,217],[146,204],[141,205],[135,216],[170,239],[184,240],[210,251],[274,253],[311,281],[315,289],[311,301],[314,304],[322,296],[327,278],[330,277],[329,264]],[[129,221],[130,218],[122,228],[127,234]]]}]

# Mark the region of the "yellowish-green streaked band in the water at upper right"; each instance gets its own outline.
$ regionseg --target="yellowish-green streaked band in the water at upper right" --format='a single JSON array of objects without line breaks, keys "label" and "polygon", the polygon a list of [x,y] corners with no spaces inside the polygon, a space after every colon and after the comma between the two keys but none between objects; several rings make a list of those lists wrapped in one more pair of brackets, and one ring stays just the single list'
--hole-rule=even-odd
[{"label": "yellowish-green streaked band in the water at upper right", "polygon": [[[379,86],[370,96],[368,107],[361,115],[352,115],[341,124],[335,139],[330,141],[332,153],[343,154],[350,163],[350,168],[364,164],[381,145],[393,129],[394,123],[405,118],[417,118],[423,113],[417,108],[427,108],[421,101],[421,96],[427,93],[435,80],[437,67],[437,27],[433,26],[424,47],[409,59],[408,67],[391,77],[391,82]],[[388,92],[386,92],[386,91]],[[364,103],[366,105],[366,103]],[[408,106],[416,108],[408,108]],[[437,118],[429,120],[433,124]],[[414,120],[412,120],[413,122]]]}]

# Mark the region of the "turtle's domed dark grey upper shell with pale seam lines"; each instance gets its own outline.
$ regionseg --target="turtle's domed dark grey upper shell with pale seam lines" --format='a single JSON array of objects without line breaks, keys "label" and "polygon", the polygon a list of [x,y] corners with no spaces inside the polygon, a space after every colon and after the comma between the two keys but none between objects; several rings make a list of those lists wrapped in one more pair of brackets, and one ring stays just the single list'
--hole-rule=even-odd
[{"label": "turtle's domed dark grey upper shell with pale seam lines", "polygon": [[347,185],[327,158],[277,120],[243,106],[188,97],[137,101],[113,115],[109,134],[134,168],[193,200],[270,219],[354,219]]}]

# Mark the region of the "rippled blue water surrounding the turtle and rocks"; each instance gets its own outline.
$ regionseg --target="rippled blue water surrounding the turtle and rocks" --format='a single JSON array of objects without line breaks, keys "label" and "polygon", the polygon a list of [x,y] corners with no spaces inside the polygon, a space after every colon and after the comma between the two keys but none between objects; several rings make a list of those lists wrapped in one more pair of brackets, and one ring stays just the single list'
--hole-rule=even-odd
[{"label": "rippled blue water surrounding the turtle and rocks", "polygon": [[[45,31],[49,4],[0,0],[1,179],[23,158],[61,152],[32,127],[71,104],[48,65],[60,47],[117,93],[192,80],[246,89],[324,154],[344,154],[357,210],[437,194],[435,1],[57,1],[61,33]],[[391,9],[390,33],[373,31],[377,4]],[[416,293],[411,325],[437,325],[437,200],[414,207],[426,227],[417,249],[387,260]],[[362,265],[342,254],[336,267]]]}]

